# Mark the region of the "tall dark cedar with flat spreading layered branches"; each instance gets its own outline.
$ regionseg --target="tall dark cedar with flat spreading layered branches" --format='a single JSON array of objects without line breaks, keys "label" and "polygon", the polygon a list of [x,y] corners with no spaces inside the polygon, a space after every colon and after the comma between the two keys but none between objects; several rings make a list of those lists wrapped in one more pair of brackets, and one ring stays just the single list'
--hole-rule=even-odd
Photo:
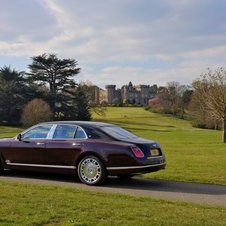
[{"label": "tall dark cedar with flat spreading layered branches", "polygon": [[61,103],[65,100],[65,91],[75,87],[73,77],[80,72],[74,59],[59,59],[55,54],[42,54],[32,57],[27,73],[30,81],[48,86],[47,102],[54,114],[61,112]]}]

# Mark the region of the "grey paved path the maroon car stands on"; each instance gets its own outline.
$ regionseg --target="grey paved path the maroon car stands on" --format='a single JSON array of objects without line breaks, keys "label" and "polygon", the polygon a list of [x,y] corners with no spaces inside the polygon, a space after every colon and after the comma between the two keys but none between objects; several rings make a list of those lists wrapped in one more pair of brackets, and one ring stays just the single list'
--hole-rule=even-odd
[{"label": "grey paved path the maroon car stands on", "polygon": [[105,185],[92,187],[80,183],[73,176],[21,172],[6,172],[3,176],[0,176],[0,180],[61,185],[98,192],[123,193],[164,200],[226,206],[226,186],[221,185],[147,180],[136,177],[128,180],[109,178]]}]

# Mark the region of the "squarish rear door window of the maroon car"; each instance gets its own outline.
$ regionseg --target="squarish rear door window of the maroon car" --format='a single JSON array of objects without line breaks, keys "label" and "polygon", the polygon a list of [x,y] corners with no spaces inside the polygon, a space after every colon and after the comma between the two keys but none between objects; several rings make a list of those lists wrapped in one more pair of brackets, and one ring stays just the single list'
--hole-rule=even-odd
[{"label": "squarish rear door window of the maroon car", "polygon": [[58,125],[53,134],[53,139],[73,139],[75,137],[77,126]]}]

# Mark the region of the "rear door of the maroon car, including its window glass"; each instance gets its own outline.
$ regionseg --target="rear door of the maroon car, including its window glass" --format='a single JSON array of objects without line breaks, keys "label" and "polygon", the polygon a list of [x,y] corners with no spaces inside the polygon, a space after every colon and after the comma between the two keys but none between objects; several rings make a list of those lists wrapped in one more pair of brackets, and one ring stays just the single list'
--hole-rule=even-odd
[{"label": "rear door of the maroon car, including its window glass", "polygon": [[72,124],[58,124],[52,139],[46,143],[48,164],[52,167],[74,169],[75,160],[82,151],[85,132]]}]

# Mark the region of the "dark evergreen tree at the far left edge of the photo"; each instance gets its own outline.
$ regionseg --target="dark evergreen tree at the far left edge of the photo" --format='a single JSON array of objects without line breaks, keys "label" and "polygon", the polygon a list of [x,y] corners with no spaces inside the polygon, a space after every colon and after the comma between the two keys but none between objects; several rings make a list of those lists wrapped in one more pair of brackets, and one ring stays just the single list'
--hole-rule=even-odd
[{"label": "dark evergreen tree at the far left edge of the photo", "polygon": [[0,69],[0,121],[19,124],[30,89],[24,72],[4,66]]}]

